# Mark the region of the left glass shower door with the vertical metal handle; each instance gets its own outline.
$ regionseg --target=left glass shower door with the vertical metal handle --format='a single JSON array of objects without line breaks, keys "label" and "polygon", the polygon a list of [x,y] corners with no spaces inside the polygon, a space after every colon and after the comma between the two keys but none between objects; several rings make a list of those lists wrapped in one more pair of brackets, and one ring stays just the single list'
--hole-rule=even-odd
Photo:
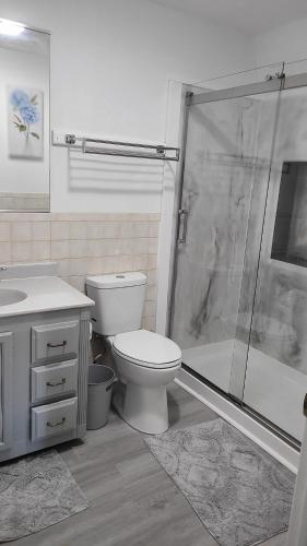
[{"label": "left glass shower door with the vertical metal handle", "polygon": [[184,364],[240,400],[280,81],[255,90],[188,107],[170,318]]}]

